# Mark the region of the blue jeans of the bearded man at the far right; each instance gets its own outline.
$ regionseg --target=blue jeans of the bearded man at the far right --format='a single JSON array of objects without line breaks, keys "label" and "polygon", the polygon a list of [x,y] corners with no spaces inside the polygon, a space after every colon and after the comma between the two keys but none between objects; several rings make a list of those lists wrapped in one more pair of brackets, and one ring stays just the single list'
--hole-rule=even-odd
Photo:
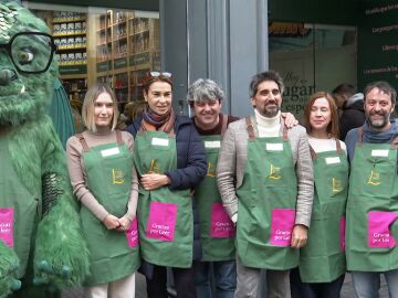
[{"label": "blue jeans of the bearded man at the far right", "polygon": [[385,275],[390,298],[398,298],[398,269],[384,273],[352,272],[355,294],[358,298],[378,298],[380,274]]}]

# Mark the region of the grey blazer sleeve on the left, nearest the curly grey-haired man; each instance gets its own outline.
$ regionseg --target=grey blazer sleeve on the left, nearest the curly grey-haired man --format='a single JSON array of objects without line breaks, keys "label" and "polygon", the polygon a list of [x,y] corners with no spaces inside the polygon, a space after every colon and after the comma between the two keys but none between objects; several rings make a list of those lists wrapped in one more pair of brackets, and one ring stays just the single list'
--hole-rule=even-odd
[{"label": "grey blazer sleeve on the left, nearest the curly grey-haired man", "polygon": [[[223,137],[217,163],[217,183],[223,206],[232,219],[238,214],[238,196],[235,190],[237,147],[231,126]],[[234,216],[235,217],[235,216]]]}]

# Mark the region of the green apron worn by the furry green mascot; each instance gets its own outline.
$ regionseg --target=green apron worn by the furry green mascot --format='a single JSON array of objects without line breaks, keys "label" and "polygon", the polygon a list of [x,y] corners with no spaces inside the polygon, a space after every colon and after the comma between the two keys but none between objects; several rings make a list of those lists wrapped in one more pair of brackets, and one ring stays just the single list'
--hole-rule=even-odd
[{"label": "green apron worn by the furry green mascot", "polygon": [[0,241],[13,247],[20,259],[18,278],[21,278],[29,262],[29,252],[34,245],[35,222],[41,217],[41,198],[34,198],[20,182],[11,163],[8,137],[0,138]]}]

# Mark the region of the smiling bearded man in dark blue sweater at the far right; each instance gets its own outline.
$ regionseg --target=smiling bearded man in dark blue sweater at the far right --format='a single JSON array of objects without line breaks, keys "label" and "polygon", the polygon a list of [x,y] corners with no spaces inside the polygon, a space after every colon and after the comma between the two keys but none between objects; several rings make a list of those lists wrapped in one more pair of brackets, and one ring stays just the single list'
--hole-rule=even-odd
[{"label": "smiling bearded man in dark blue sweater at the far right", "polygon": [[346,256],[358,298],[378,297],[379,275],[398,297],[397,93],[387,82],[365,87],[365,124],[346,137],[350,160]]}]

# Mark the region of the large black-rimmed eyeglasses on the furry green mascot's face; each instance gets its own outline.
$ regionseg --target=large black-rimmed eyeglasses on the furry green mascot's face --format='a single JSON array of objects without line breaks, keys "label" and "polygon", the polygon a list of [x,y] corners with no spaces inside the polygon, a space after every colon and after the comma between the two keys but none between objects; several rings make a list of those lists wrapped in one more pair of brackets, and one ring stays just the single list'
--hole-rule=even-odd
[{"label": "large black-rimmed eyeglasses on the furry green mascot's face", "polygon": [[54,39],[43,32],[20,32],[6,43],[4,49],[21,73],[40,74],[49,70],[56,46]]}]

